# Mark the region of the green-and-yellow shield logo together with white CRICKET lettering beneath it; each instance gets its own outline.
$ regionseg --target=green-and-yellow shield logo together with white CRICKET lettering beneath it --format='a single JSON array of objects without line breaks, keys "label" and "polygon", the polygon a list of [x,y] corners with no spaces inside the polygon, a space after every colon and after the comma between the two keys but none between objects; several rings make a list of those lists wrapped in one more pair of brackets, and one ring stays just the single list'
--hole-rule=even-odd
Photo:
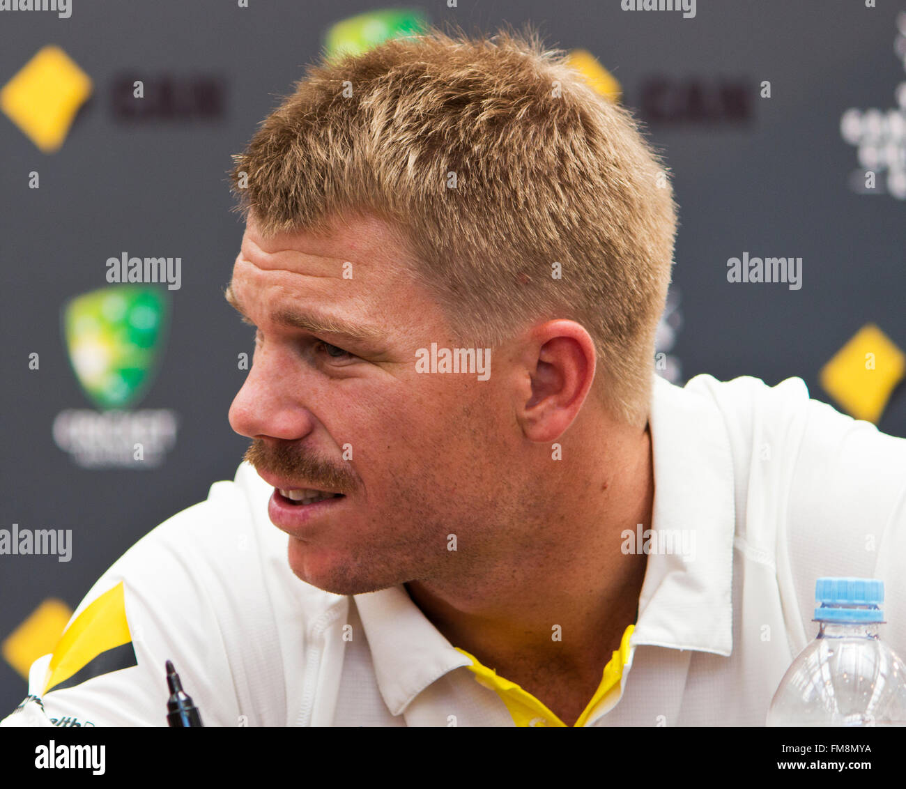
[{"label": "green-and-yellow shield logo together with white CRICKET lettering beneath it", "polygon": [[86,468],[157,467],[176,443],[169,409],[126,410],[144,397],[162,356],[166,291],[113,285],[63,306],[63,338],[82,391],[99,410],[67,409],[53,421],[53,439]]}]

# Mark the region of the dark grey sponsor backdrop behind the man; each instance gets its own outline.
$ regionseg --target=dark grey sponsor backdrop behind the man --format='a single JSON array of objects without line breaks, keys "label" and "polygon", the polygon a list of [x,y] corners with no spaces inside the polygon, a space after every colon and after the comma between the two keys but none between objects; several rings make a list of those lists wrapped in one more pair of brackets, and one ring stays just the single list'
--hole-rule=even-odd
[{"label": "dark grey sponsor backdrop behind the man", "polygon": [[[69,19],[0,12],[0,85],[49,43],[93,82],[56,153],[37,149],[0,114],[0,528],[73,534],[70,562],[0,555],[0,639],[48,598],[74,608],[142,534],[231,478],[246,447],[226,421],[246,374],[237,353],[252,350],[251,330],[221,295],[243,229],[229,210],[229,156],[301,76],[331,24],[383,7],[249,6],[72,0]],[[649,121],[681,210],[678,307],[660,335],[665,374],[770,384],[801,376],[814,398],[841,409],[818,372],[863,324],[906,349],[906,201],[884,193],[880,169],[881,188],[853,191],[858,152],[841,135],[848,109],[898,106],[906,72],[895,40],[906,3],[699,0],[692,19],[622,11],[620,0],[418,7],[431,22],[468,30],[533,21],[548,43],[593,53]],[[122,92],[125,84],[128,100],[136,79],[146,101],[157,91],[142,117],[130,116]],[[770,98],[760,95],[765,80]],[[29,188],[31,171],[40,188]],[[105,261],[124,250],[182,259],[159,370],[130,406],[172,412],[178,433],[156,467],[81,467],[53,438],[62,411],[94,408],[73,375],[60,313],[73,296],[105,286]],[[728,258],[744,251],[802,257],[801,289],[729,284]],[[31,353],[38,370],[29,369]],[[878,424],[906,436],[902,387]],[[24,692],[24,679],[0,661],[0,717]]]}]

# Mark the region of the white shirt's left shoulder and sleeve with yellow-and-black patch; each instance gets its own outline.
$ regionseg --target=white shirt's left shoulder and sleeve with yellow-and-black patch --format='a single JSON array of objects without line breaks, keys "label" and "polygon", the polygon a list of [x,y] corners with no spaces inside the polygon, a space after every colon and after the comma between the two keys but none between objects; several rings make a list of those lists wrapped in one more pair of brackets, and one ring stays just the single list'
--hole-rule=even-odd
[{"label": "white shirt's left shoulder and sleeve with yellow-and-black patch", "polygon": [[317,622],[342,598],[294,576],[287,537],[267,518],[269,488],[257,480],[243,464],[101,575],[53,656],[33,664],[29,692],[43,698],[45,717],[159,725],[161,672],[172,660],[207,725],[295,719],[302,655]]}]

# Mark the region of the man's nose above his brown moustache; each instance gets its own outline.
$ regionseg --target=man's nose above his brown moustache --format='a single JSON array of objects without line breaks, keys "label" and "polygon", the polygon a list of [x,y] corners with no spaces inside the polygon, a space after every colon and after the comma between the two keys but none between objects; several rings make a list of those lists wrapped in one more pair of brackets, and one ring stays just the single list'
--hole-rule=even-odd
[{"label": "man's nose above his brown moustache", "polygon": [[279,354],[259,349],[252,369],[229,409],[229,424],[247,438],[304,438],[311,431],[311,412],[298,401],[301,387],[281,369]]}]

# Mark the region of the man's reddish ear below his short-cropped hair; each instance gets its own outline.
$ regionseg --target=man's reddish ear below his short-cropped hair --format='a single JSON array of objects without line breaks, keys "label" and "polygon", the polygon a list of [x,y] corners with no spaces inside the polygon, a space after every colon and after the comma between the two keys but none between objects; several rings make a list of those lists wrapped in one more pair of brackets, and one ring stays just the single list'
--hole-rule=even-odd
[{"label": "man's reddish ear below his short-cropped hair", "polygon": [[517,394],[516,419],[525,438],[550,442],[563,435],[594,380],[594,342],[574,321],[548,321],[525,337],[520,363],[528,385]]}]

